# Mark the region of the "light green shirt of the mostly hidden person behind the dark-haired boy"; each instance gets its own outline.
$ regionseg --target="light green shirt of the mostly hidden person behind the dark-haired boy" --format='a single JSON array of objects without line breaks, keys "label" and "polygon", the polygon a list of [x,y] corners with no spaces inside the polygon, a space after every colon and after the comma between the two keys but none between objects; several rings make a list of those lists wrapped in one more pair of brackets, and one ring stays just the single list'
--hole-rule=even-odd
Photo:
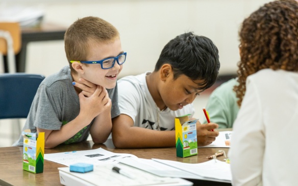
[{"label": "light green shirt of the mostly hidden person behind the dark-haired boy", "polygon": [[[237,117],[239,107],[237,105],[236,93],[233,90],[237,80],[231,79],[222,83],[213,90],[209,97],[206,110],[209,113],[210,121],[218,124],[219,129],[232,128]],[[207,123],[206,118],[203,123]]]}]

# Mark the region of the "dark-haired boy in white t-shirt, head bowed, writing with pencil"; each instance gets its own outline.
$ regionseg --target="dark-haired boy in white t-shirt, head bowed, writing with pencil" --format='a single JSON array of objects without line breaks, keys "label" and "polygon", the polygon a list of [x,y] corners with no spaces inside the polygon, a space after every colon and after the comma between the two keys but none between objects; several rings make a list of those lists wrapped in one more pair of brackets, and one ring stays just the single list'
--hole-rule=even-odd
[{"label": "dark-haired boy in white t-shirt, head bowed, writing with pencil", "polygon": [[[175,117],[193,116],[195,97],[216,81],[218,50],[203,36],[185,33],[163,48],[154,72],[118,80],[121,114],[113,118],[112,138],[118,148],[175,146]],[[211,144],[216,123],[197,122],[197,143]]]}]

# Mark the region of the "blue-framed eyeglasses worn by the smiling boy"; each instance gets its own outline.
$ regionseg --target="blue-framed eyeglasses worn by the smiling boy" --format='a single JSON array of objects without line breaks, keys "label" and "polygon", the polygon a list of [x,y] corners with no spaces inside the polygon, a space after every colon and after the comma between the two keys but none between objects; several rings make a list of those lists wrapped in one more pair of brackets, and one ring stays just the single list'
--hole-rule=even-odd
[{"label": "blue-framed eyeglasses worn by the smiling boy", "polygon": [[83,61],[83,60],[71,60],[70,63],[73,62],[80,62],[84,64],[101,64],[102,69],[111,69],[115,65],[115,61],[117,61],[118,65],[122,65],[126,60],[126,52],[121,53],[117,57],[109,57],[106,59],[102,60],[88,60],[88,61]]}]

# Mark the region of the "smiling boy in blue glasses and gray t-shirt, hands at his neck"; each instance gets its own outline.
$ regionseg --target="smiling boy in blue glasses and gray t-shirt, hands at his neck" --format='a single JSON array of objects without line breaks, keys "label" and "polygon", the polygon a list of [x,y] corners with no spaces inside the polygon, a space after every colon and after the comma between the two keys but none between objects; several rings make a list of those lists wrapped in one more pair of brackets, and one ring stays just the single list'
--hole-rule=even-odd
[{"label": "smiling boy in blue glasses and gray t-shirt, hands at his neck", "polygon": [[[104,143],[120,114],[116,80],[126,52],[118,30],[85,17],[70,25],[64,42],[69,66],[40,84],[23,129],[44,132],[45,148],[84,141],[89,133],[94,143]],[[20,136],[13,146],[22,144]]]}]

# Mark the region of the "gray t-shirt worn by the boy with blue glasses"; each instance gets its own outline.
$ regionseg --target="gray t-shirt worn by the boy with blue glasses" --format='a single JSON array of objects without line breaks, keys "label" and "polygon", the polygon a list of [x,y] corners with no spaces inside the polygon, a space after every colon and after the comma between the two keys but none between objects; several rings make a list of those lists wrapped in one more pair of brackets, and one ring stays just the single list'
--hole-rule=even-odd
[{"label": "gray t-shirt worn by the boy with blue glasses", "polygon": [[[80,112],[80,101],[71,83],[72,77],[69,66],[65,66],[60,72],[46,77],[38,87],[23,130],[31,129],[31,132],[36,132],[36,128],[60,130],[61,126],[76,118]],[[107,90],[112,100],[111,117],[114,118],[120,114],[117,84],[115,88]],[[86,140],[93,120],[64,143]],[[20,135],[12,146],[22,145],[23,137]]]}]

